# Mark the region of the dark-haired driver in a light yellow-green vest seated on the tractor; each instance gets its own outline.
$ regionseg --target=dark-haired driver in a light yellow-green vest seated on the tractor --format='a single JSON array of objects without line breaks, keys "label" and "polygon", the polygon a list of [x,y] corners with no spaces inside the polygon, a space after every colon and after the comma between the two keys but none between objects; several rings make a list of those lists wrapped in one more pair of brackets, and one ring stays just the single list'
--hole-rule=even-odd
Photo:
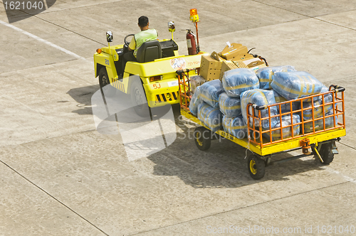
[{"label": "dark-haired driver in a light yellow-green vest seated on the tractor", "polygon": [[127,61],[136,61],[137,50],[142,43],[157,40],[158,33],[154,28],[148,28],[149,24],[147,16],[140,16],[140,18],[138,18],[138,27],[140,27],[141,32],[136,33],[130,42],[129,52],[124,55],[124,68]]}]

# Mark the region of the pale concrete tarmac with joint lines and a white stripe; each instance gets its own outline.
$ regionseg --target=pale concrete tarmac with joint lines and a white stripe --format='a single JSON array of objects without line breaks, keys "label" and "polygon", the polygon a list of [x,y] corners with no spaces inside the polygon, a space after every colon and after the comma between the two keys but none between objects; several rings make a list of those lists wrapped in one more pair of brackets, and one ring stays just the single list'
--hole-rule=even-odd
[{"label": "pale concrete tarmac with joint lines and a white stripe", "polygon": [[[355,0],[57,0],[11,24],[0,2],[1,236],[356,234]],[[96,129],[93,54],[105,32],[122,44],[145,15],[170,38],[174,21],[186,55],[192,8],[201,50],[242,43],[270,65],[346,88],[347,136],[329,166],[310,156],[254,181],[231,141],[199,151],[177,106],[177,139],[135,161],[120,133]]]}]

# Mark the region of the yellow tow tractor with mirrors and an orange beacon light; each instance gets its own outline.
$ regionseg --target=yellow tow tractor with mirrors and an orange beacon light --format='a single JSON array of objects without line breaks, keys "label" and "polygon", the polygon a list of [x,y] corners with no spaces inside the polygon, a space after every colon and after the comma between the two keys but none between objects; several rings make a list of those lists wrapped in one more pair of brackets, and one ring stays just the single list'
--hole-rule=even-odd
[{"label": "yellow tow tractor with mirrors and an orange beacon light", "polygon": [[[196,9],[191,11],[191,19],[197,27]],[[194,54],[189,51],[189,55],[179,55],[173,40],[174,22],[169,21],[168,26],[171,39],[143,43],[137,51],[137,62],[129,61],[125,68],[123,56],[130,44],[127,38],[134,35],[127,35],[123,45],[110,46],[112,32],[106,33],[108,47],[98,48],[94,54],[95,77],[99,76],[105,97],[113,97],[117,90],[130,94],[135,112],[142,117],[150,114],[149,107],[179,103],[176,71],[189,69],[190,76],[198,75],[203,53],[197,47]]]}]

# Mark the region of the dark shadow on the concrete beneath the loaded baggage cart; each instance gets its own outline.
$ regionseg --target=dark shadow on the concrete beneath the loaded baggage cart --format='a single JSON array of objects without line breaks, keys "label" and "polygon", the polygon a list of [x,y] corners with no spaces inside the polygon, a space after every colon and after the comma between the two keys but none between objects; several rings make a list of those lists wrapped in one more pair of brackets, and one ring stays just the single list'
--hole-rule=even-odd
[{"label": "dark shadow on the concrete beneath the loaded baggage cart", "polygon": [[[194,188],[239,188],[263,181],[288,181],[288,176],[308,175],[305,172],[322,170],[321,163],[310,155],[304,160],[296,159],[268,166],[261,180],[253,180],[244,159],[246,149],[227,139],[217,139],[211,141],[210,149],[200,151],[193,139],[197,124],[178,120],[177,112],[179,110],[174,111],[176,124],[182,129],[177,133],[177,139],[166,149],[148,157],[156,164],[153,172],[156,176],[177,176]],[[293,155],[278,154],[273,156],[272,161],[290,156]]]}]

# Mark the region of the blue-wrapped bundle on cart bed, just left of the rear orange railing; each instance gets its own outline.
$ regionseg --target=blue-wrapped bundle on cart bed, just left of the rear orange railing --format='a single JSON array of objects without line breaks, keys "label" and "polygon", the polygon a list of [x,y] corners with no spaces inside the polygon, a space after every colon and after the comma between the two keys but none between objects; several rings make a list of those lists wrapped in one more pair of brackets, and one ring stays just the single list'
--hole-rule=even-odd
[{"label": "blue-wrapped bundle on cart bed, just left of the rear orange railing", "polygon": [[238,139],[247,138],[247,125],[242,116],[229,118],[223,117],[224,132],[236,136]]}]

